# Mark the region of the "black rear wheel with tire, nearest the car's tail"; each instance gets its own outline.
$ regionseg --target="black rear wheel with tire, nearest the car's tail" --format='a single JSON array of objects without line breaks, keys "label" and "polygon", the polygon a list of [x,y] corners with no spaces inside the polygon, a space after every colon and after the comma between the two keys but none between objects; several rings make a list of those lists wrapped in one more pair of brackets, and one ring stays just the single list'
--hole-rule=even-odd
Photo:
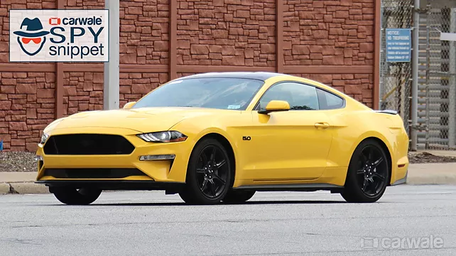
[{"label": "black rear wheel with tire, nearest the car's tail", "polygon": [[378,201],[389,184],[390,166],[381,145],[376,140],[364,140],[350,160],[342,197],[349,203]]}]

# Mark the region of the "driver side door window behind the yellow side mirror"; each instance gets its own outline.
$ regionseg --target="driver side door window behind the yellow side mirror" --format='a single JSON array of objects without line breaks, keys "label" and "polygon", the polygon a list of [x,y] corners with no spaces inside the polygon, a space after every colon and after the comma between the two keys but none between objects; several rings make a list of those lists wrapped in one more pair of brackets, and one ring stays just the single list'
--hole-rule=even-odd
[{"label": "driver side door window behind the yellow side mirror", "polygon": [[305,84],[284,82],[273,85],[261,97],[257,110],[266,109],[269,101],[287,101],[291,110],[318,110],[317,89]]}]

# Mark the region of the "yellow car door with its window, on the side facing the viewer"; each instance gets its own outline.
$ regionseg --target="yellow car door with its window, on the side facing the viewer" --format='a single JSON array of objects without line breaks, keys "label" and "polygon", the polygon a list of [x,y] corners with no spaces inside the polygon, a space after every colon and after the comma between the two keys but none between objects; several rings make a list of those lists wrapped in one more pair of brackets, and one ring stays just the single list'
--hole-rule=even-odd
[{"label": "yellow car door with its window, on the side facing the viewer", "polygon": [[[290,111],[258,113],[272,100],[287,101]],[[249,160],[244,179],[290,182],[316,179],[325,171],[332,133],[330,119],[320,111],[317,89],[298,82],[270,87],[252,111]]]}]

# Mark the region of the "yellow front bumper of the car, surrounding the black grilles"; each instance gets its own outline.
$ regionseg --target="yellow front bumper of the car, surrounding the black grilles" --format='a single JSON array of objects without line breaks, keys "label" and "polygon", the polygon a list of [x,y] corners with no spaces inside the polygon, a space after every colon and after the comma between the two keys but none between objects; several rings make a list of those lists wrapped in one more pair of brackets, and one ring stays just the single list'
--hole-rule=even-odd
[{"label": "yellow front bumper of the car, surrounding the black grilles", "polygon": [[[98,182],[102,184],[111,182],[116,186],[123,186],[125,182],[185,182],[186,169],[192,145],[189,141],[179,143],[148,143],[138,138],[135,130],[123,128],[71,128],[57,129],[50,132],[52,135],[72,134],[72,133],[97,133],[97,134],[113,134],[121,135],[129,140],[134,145],[134,150],[129,155],[46,155],[43,150],[44,145],[38,145],[36,152],[42,160],[38,161],[38,175],[36,181],[45,184],[63,184],[60,182]],[[175,155],[173,160],[154,160],[141,161],[139,158],[142,155]],[[137,169],[143,174],[132,174],[131,176],[119,177],[103,177],[94,175],[93,177],[71,177],[49,175],[51,172],[46,172],[46,169],[71,169],[73,172],[77,169],[92,169],[97,172],[97,169]],[[58,176],[58,177],[55,177]],[[59,183],[55,183],[59,182]],[[67,183],[70,184],[70,183]],[[97,183],[93,183],[97,184]],[[140,183],[141,184],[141,183]],[[142,183],[141,186],[145,184]],[[146,187],[150,187],[148,184]],[[134,186],[133,186],[134,187]]]}]

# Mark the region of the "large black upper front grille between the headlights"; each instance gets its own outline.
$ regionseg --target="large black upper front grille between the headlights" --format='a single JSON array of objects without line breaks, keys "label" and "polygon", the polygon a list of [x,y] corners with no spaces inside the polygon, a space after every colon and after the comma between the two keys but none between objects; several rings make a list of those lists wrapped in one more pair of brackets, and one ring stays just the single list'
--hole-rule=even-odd
[{"label": "large black upper front grille between the headlights", "polygon": [[134,145],[120,135],[65,134],[50,136],[46,155],[129,155]]}]

